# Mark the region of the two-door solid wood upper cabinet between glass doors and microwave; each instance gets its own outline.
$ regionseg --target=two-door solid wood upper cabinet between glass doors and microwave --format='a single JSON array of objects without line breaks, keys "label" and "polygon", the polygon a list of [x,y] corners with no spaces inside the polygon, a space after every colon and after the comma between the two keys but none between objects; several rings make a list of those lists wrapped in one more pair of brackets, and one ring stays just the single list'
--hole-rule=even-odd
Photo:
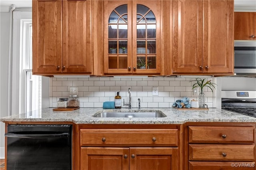
[{"label": "two-door solid wood upper cabinet between glass doors and microwave", "polygon": [[233,73],[233,0],[175,0],[173,74]]}]

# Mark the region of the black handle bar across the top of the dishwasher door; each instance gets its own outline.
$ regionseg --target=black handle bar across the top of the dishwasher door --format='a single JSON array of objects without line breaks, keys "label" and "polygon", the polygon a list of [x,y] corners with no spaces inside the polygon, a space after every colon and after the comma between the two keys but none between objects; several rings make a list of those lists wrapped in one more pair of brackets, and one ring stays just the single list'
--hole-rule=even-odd
[{"label": "black handle bar across the top of the dishwasher door", "polygon": [[6,133],[4,136],[9,138],[54,138],[54,137],[69,137],[69,133],[58,134],[19,134],[19,133]]}]

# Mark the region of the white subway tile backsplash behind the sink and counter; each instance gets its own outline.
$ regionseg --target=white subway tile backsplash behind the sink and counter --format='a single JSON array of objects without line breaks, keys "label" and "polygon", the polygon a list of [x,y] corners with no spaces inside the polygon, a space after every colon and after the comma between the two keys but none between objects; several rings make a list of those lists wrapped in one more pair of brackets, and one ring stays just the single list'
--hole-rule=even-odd
[{"label": "white subway tile backsplash behind the sink and counter", "polygon": [[[213,82],[216,78],[210,78]],[[172,107],[178,99],[188,97],[197,99],[193,95],[190,78],[176,77],[147,77],[147,78],[114,78],[114,77],[89,77],[89,78],[50,78],[50,107],[56,107],[60,97],[69,96],[69,87],[78,86],[80,107],[102,107],[104,101],[114,101],[116,92],[125,102],[129,101],[128,88],[131,88],[132,107],[138,107],[138,98],[141,108]],[[152,96],[152,87],[158,87],[158,96]],[[208,107],[216,105],[214,93],[209,88],[203,89]]]}]

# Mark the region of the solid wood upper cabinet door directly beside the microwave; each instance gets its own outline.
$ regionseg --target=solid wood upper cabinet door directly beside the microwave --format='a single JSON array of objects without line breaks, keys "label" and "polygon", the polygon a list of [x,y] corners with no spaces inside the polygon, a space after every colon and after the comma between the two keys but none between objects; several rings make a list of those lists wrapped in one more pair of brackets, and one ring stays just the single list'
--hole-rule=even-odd
[{"label": "solid wood upper cabinet door directly beside the microwave", "polygon": [[234,1],[204,1],[204,73],[234,71]]}]

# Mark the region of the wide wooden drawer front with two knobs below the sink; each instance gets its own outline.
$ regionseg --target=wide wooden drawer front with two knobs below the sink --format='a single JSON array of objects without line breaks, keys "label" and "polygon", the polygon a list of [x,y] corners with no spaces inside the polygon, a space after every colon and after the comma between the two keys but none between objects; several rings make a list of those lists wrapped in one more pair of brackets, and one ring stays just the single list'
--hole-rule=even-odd
[{"label": "wide wooden drawer front with two knobs below the sink", "polygon": [[80,146],[178,146],[178,130],[80,129]]}]

